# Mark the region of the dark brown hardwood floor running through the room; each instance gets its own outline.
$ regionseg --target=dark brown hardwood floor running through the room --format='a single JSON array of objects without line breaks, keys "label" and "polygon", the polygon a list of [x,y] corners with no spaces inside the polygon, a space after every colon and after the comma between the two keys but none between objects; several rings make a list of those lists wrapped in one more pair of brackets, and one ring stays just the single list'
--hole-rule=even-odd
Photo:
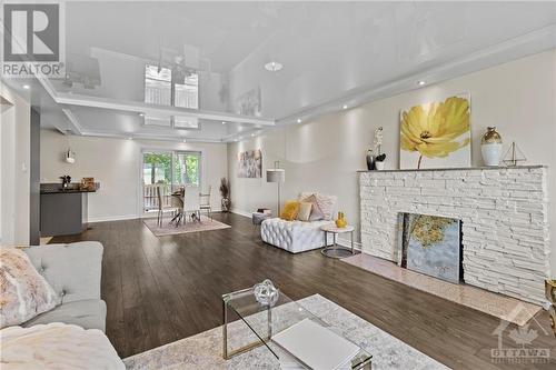
[{"label": "dark brown hardwood floor running through the room", "polygon": [[[451,368],[556,368],[556,339],[542,330],[534,344],[550,350],[550,363],[493,363],[498,319],[318,250],[290,254],[267,246],[247,218],[215,218],[231,229],[157,238],[141,220],[129,220],[92,223],[82,234],[51,241],[105,246],[107,334],[122,358],[220,326],[221,294],[270,278],[294,299],[319,293]],[[536,319],[549,332],[547,313]]]}]

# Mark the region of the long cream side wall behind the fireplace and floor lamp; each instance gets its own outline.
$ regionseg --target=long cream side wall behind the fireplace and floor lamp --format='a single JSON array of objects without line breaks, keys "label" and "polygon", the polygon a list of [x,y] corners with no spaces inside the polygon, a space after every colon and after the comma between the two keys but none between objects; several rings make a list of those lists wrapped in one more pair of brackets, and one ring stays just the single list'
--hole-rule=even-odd
[{"label": "long cream side wall behind the fireplace and floor lamp", "polygon": [[[374,130],[384,127],[386,168],[398,168],[399,111],[414,104],[469,92],[471,96],[473,166],[481,166],[480,137],[496,126],[505,147],[515,140],[528,164],[549,167],[549,193],[556,197],[556,51],[530,56],[460,78],[367,103],[314,121],[266,131],[260,137],[228,146],[232,207],[251,212],[276,209],[276,184],[266,179],[238,179],[237,153],[261,149],[264,170],[280,160],[286,169],[282,200],[302,190],[338,196],[338,207],[359,227],[358,177]],[[554,199],[550,199],[554,204]],[[552,233],[556,207],[552,207]],[[552,269],[556,274],[556,238],[552,238]]]}]

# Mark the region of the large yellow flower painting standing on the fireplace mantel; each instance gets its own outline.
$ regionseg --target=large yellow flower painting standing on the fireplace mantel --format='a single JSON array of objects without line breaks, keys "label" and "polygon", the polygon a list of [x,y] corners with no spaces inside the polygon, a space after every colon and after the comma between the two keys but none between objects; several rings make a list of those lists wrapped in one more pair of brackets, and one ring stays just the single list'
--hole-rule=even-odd
[{"label": "large yellow flower painting standing on the fireplace mantel", "polygon": [[469,167],[469,97],[415,106],[400,117],[400,169]]}]

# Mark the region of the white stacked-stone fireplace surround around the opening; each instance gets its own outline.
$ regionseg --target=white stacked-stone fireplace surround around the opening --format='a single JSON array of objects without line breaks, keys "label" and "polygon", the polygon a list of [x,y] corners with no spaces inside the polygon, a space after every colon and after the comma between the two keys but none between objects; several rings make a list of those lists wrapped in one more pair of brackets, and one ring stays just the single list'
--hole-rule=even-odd
[{"label": "white stacked-stone fireplace surround around the opening", "polygon": [[396,261],[399,212],[463,220],[464,279],[542,303],[549,273],[547,169],[360,172],[361,250]]}]

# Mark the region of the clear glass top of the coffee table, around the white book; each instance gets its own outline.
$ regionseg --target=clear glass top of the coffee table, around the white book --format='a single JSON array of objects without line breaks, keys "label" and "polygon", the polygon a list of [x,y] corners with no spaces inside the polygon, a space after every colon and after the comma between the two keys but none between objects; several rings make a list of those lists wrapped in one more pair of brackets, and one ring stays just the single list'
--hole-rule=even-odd
[{"label": "clear glass top of the coffee table, around the white book", "polygon": [[[337,332],[327,322],[305,309],[301,304],[290,299],[284,292],[279,291],[279,298],[274,306],[259,303],[254,293],[254,289],[245,289],[222,296],[225,309],[228,308],[235,312],[258,338],[259,344],[264,344],[277,359],[287,352],[271,338],[272,336],[290,328],[291,326],[309,319],[316,323]],[[289,353],[286,356],[290,357]],[[364,368],[370,362],[371,354],[360,349],[351,359],[351,369]],[[300,360],[299,363],[302,363]]]}]

